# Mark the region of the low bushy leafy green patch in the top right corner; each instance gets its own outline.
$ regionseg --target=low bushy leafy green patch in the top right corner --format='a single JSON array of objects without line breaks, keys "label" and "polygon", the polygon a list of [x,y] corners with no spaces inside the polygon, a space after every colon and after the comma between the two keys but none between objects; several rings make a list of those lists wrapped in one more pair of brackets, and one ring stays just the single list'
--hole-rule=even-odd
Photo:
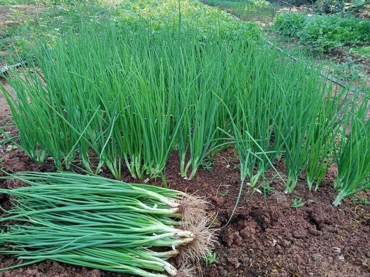
[{"label": "low bushy leafy green patch in the top right corner", "polygon": [[276,17],[273,28],[279,33],[298,38],[300,43],[316,51],[370,42],[370,21],[351,16],[282,13]]}]

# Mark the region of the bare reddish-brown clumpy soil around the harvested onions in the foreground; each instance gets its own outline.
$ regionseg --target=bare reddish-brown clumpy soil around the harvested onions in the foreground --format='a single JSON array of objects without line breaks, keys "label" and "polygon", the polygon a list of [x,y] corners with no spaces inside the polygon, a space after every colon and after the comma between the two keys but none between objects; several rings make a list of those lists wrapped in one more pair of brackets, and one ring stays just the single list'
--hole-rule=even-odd
[{"label": "bare reddish-brown clumpy soil around the harvested onions in the foreground", "polygon": [[[0,98],[1,100],[1,98]],[[6,104],[0,105],[0,116],[9,115]],[[11,128],[11,134],[17,132]],[[55,171],[52,161],[34,164],[20,149],[0,149],[0,166],[6,171]],[[355,206],[350,199],[340,207],[331,205],[335,197],[332,190],[336,169],[332,168],[318,192],[310,193],[304,178],[299,180],[293,195],[283,193],[280,181],[274,181],[273,172],[266,173],[273,190],[261,194],[245,186],[238,209],[230,224],[225,224],[233,209],[239,189],[237,158],[232,150],[216,157],[212,171],[200,169],[194,180],[184,180],[178,175],[176,153],[168,160],[165,169],[167,185],[205,196],[213,204],[210,213],[217,215],[216,227],[220,228],[215,252],[217,262],[201,271],[205,277],[227,276],[370,276],[370,207]],[[284,176],[284,165],[275,167]],[[103,175],[111,177],[107,169]],[[123,170],[122,179],[138,182]],[[161,179],[149,183],[163,185]],[[14,181],[0,180],[0,187],[13,188]],[[263,191],[262,187],[259,187]],[[370,193],[363,193],[370,197]],[[290,207],[293,198],[302,198],[300,209]],[[9,199],[0,195],[0,205],[10,207]],[[0,256],[0,267],[19,263],[10,256]],[[45,261],[30,266],[0,272],[3,277],[129,277],[126,274],[104,272],[97,269],[73,266],[55,261]],[[196,273],[201,276],[201,273]]]}]

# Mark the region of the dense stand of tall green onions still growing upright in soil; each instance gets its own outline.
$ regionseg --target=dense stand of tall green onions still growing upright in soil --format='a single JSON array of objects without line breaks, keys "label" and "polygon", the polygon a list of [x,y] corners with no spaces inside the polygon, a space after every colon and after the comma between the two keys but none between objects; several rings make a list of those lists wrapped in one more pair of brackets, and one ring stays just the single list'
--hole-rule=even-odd
[{"label": "dense stand of tall green onions still growing upright in soil", "polygon": [[288,192],[303,172],[316,190],[333,163],[336,204],[370,185],[367,99],[265,45],[94,25],[33,52],[37,66],[8,79],[15,95],[3,91],[36,162],[50,156],[63,170],[77,161],[96,174],[105,165],[117,179],[125,164],[144,178],[176,151],[192,179],[208,155],[234,146],[251,186],[275,160],[286,164]]}]

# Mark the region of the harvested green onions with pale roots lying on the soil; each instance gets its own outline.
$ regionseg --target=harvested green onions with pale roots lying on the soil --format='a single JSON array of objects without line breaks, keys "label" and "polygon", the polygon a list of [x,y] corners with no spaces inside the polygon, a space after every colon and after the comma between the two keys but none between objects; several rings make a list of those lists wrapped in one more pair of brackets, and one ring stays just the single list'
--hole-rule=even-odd
[{"label": "harvested green onions with pale roots lying on the soil", "polygon": [[0,252],[30,260],[3,269],[53,259],[148,277],[190,276],[189,267],[177,270],[167,259],[199,260],[214,242],[207,202],[186,193],[68,172],[3,178],[29,186],[0,189],[15,199],[0,222],[18,222],[1,232]]}]

